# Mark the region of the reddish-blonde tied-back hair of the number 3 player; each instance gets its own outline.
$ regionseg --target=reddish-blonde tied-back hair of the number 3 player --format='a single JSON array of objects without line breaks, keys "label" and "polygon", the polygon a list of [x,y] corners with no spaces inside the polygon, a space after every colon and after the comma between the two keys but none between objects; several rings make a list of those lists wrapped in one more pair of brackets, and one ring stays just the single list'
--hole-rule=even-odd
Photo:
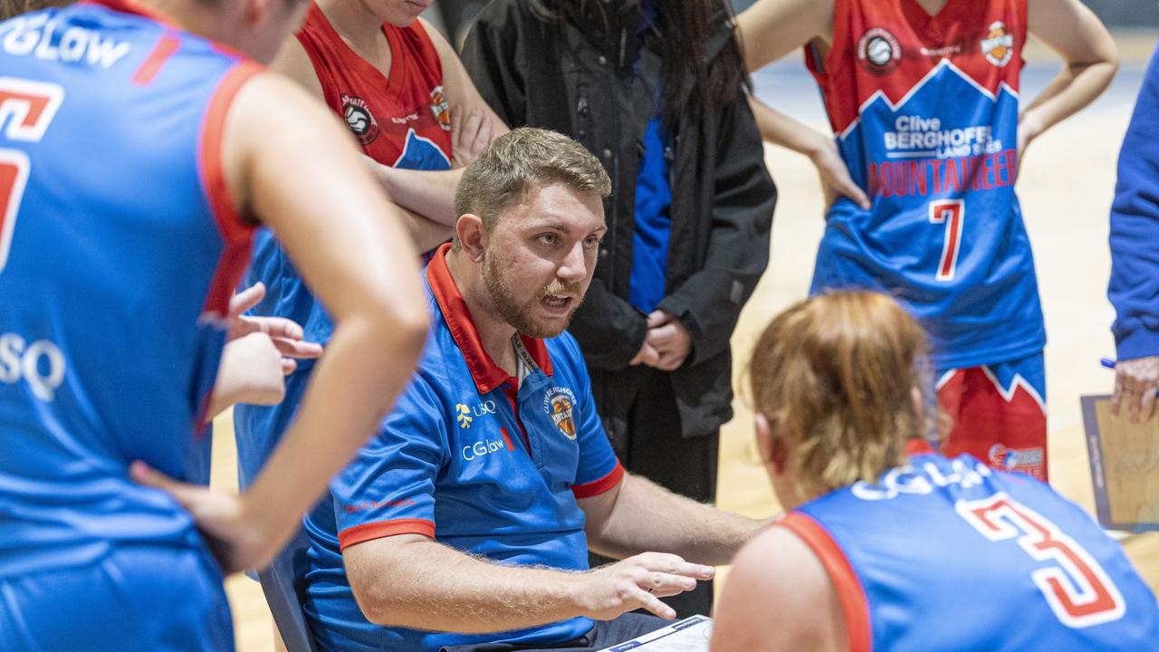
[{"label": "reddish-blonde tied-back hair of the number 3 player", "polygon": [[[749,362],[753,406],[792,443],[799,488],[874,481],[930,430],[928,345],[890,297],[838,291],[788,309]],[[916,396],[918,392],[918,396]]]}]

